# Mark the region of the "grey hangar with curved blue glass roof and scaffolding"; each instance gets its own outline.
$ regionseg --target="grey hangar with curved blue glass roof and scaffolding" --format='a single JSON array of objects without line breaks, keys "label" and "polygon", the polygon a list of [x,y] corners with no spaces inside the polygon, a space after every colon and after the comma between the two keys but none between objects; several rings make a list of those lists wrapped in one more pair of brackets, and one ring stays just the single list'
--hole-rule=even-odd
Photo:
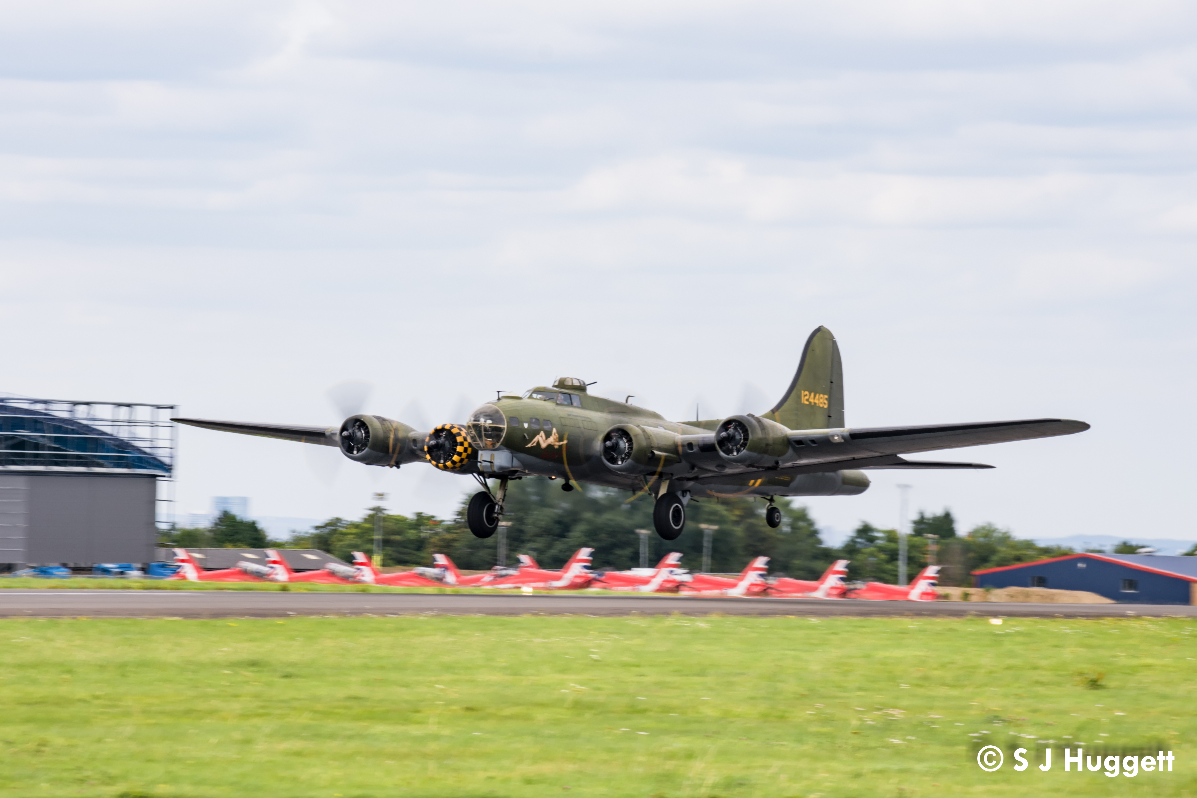
[{"label": "grey hangar with curved blue glass roof and scaffolding", "polygon": [[152,561],[175,409],[0,395],[0,568]]}]

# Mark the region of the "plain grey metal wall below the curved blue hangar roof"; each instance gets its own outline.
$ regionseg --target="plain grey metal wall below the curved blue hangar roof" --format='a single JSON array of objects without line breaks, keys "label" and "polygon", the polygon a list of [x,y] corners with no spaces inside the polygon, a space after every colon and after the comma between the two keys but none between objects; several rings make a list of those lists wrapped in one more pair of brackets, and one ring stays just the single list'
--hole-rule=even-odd
[{"label": "plain grey metal wall below the curved blue hangar roof", "polygon": [[156,480],[0,474],[0,562],[147,562]]}]

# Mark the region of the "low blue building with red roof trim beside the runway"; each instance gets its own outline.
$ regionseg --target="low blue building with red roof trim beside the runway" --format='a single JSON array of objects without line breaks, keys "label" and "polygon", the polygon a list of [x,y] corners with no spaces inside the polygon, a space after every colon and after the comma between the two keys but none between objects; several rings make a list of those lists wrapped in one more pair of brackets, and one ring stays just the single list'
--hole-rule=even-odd
[{"label": "low blue building with red roof trim beside the runway", "polygon": [[1069,554],[973,571],[977,587],[1087,590],[1132,604],[1197,604],[1197,558]]}]

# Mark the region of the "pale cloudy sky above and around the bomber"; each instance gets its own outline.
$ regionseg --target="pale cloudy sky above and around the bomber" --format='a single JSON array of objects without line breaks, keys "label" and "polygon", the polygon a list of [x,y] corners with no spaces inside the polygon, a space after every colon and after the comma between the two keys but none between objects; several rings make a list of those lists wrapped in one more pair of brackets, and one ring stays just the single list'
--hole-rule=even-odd
[{"label": "pale cloudy sky above and around the bomber", "polygon": [[[847,422],[1082,419],[810,500],[1197,538],[1197,7],[0,2],[0,390],[460,420],[557,376]],[[13,346],[16,345],[16,346]],[[472,482],[187,428],[178,508],[445,513]]]}]

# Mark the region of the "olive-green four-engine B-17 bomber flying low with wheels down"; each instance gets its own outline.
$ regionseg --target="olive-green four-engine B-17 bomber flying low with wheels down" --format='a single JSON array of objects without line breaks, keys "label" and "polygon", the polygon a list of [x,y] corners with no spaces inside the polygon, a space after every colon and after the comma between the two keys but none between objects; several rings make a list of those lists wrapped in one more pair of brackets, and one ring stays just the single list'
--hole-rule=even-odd
[{"label": "olive-green four-engine B-17 bomber flying low with wheels down", "polygon": [[[511,480],[561,480],[651,495],[654,526],[667,541],[686,526],[691,499],[759,498],[777,528],[776,497],[856,495],[873,469],[976,469],[982,463],[907,461],[940,449],[1067,435],[1083,421],[1031,419],[910,427],[847,427],[839,346],[826,327],[807,339],[785,396],[768,412],[727,419],[668,421],[631,404],[591,395],[563,377],[523,395],[500,395],[464,424],[415,430],[381,415],[351,415],[339,427],[174,419],[223,432],[339,446],[364,465],[427,463],[469,476],[481,491],[467,508],[469,530],[490,537],[503,518]],[[631,397],[628,397],[631,398]]]}]

